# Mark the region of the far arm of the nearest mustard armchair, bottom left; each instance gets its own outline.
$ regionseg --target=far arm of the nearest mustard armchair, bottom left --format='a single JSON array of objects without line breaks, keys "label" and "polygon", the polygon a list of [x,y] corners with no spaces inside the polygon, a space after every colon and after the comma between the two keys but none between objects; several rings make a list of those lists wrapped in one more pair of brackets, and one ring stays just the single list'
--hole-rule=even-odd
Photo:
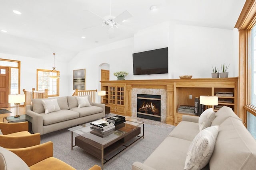
[{"label": "far arm of the nearest mustard armchair, bottom left", "polygon": [[33,147],[8,150],[18,155],[28,166],[32,166],[53,156],[53,143],[49,141]]}]

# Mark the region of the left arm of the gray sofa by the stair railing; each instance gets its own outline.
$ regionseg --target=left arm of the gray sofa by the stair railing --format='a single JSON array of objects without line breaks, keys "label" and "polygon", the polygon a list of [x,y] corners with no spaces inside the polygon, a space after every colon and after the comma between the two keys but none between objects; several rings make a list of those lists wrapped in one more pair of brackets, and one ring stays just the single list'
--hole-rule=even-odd
[{"label": "left arm of the gray sofa by the stair railing", "polygon": [[40,133],[42,135],[43,134],[43,117],[42,117],[42,115],[34,112],[32,105],[26,106],[26,114],[33,118],[31,120],[33,133]]}]

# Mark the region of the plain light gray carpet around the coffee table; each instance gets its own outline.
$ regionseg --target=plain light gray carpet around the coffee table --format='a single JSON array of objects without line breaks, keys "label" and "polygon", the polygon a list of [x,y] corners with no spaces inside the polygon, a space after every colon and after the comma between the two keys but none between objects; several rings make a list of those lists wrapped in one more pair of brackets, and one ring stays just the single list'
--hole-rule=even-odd
[{"label": "plain light gray carpet around the coffee table", "polygon": [[[144,162],[158,145],[174,129],[172,125],[151,125],[145,123],[144,139],[140,139],[129,148],[104,164],[104,170],[131,170],[136,161]],[[71,150],[71,132],[67,129],[55,131],[41,136],[41,143],[52,141],[54,157],[70,164],[77,170],[88,170],[94,164],[101,166],[98,158],[88,154],[79,147]]]}]

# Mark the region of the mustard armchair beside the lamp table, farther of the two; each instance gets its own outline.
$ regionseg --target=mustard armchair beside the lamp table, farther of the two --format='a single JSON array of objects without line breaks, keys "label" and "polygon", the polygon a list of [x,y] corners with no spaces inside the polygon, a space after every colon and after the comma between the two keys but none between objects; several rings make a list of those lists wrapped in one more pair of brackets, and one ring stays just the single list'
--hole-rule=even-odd
[{"label": "mustard armchair beside the lamp table, farther of the two", "polygon": [[2,123],[0,129],[0,147],[4,148],[25,148],[40,144],[40,133],[30,134],[28,122]]}]

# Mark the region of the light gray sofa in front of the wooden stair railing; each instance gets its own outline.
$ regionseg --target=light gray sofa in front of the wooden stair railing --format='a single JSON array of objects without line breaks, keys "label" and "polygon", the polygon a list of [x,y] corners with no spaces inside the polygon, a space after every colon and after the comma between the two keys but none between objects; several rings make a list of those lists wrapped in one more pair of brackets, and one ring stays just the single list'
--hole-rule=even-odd
[{"label": "light gray sofa in front of the wooden stair railing", "polygon": [[[44,100],[52,99],[55,98]],[[90,96],[88,96],[90,106],[80,108],[78,108],[76,96],[64,96],[56,99],[60,110],[47,114],[42,99],[33,99],[32,105],[26,106],[26,114],[32,117],[33,133],[43,135],[105,117],[105,104],[92,103]]]}]

